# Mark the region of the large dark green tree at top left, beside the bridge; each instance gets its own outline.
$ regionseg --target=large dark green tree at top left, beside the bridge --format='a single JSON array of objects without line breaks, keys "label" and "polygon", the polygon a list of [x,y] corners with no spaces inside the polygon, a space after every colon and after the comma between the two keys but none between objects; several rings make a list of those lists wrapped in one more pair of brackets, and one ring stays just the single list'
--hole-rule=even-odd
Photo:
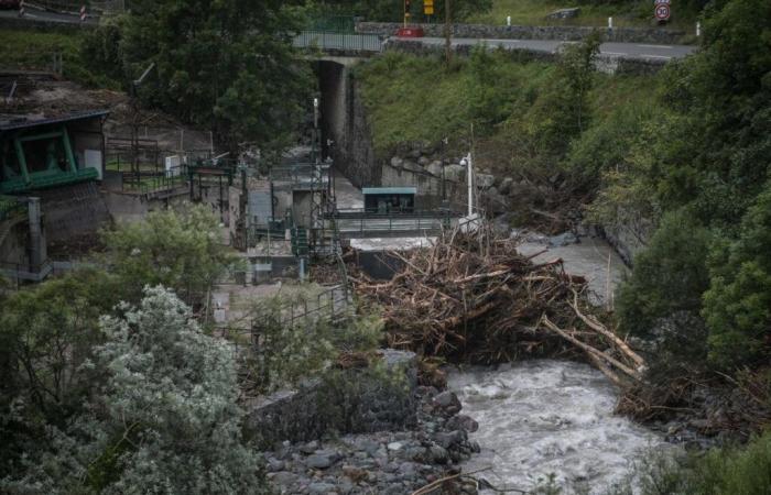
[{"label": "large dark green tree at top left, beside the bridge", "polygon": [[211,129],[234,150],[286,144],[312,89],[310,67],[291,47],[301,25],[293,2],[134,3],[88,37],[84,53],[95,68],[128,89],[154,63],[139,88],[145,105]]}]

